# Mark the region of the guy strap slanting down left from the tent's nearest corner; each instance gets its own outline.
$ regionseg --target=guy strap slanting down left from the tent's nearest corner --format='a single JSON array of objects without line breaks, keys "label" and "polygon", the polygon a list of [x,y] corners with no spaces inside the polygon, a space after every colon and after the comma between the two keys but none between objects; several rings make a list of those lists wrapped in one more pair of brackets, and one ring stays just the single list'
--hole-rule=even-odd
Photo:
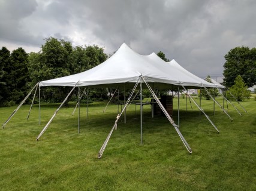
[{"label": "guy strap slanting down left from the tent's nearest corner", "polygon": [[106,149],[107,143],[109,143],[109,139],[110,139],[110,137],[111,137],[111,135],[112,135],[114,129],[117,128],[118,120],[119,120],[119,118],[121,117],[122,113],[124,113],[124,110],[125,110],[125,108],[127,107],[127,105],[128,105],[128,103],[129,103],[129,101],[130,101],[130,99],[131,99],[131,96],[133,95],[135,89],[137,88],[137,85],[138,85],[138,82],[140,81],[140,79],[141,79],[141,76],[140,76],[140,78],[138,79],[137,83],[135,84],[133,90],[131,91],[131,95],[129,96],[129,98],[128,98],[128,100],[127,100],[127,103],[125,104],[124,108],[122,109],[120,115],[118,114],[118,116],[116,117],[115,124],[113,125],[112,129],[110,130],[109,135],[107,135],[107,138],[106,138],[106,140],[105,140],[104,143],[103,143],[103,146],[101,146],[101,149],[100,149],[100,151],[98,152],[98,158],[99,158],[99,159],[100,159],[101,156],[103,155],[103,152],[104,152],[104,150]]}]

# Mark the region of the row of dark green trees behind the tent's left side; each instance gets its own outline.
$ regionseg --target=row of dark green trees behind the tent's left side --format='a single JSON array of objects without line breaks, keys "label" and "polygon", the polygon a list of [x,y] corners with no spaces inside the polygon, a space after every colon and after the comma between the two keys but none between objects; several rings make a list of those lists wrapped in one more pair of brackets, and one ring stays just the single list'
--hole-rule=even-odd
[{"label": "row of dark green trees behind the tent's left side", "polygon": [[[2,47],[0,105],[20,103],[37,82],[89,70],[108,57],[104,48],[98,45],[73,47],[71,42],[53,37],[45,39],[45,44],[38,53],[28,54],[23,48],[10,53],[7,48]],[[58,103],[64,100],[69,91],[70,87],[41,88],[41,97],[46,102]],[[91,91],[94,96],[95,91]],[[98,90],[101,94],[103,91],[106,90]]]}]

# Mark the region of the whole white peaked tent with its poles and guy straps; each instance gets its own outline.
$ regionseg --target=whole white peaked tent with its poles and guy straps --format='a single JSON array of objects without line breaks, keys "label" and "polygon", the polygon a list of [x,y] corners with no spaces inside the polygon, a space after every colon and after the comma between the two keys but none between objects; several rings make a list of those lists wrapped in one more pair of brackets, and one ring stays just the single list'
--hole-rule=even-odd
[{"label": "whole white peaked tent with its poles and guy straps", "polygon": [[[122,113],[125,112],[125,108],[129,103],[129,101],[131,101],[130,98],[134,93],[134,90],[138,87],[138,84],[140,84],[140,92],[143,86],[150,90],[153,98],[161,107],[162,112],[164,112],[165,116],[167,116],[171,125],[173,125],[173,127],[177,131],[177,134],[181,138],[186,149],[188,150],[189,153],[191,153],[192,150],[189,147],[188,143],[186,143],[185,138],[183,138],[182,134],[180,133],[179,126],[176,125],[173,119],[171,119],[170,115],[168,115],[168,112],[164,109],[164,106],[162,106],[158,97],[153,92],[153,88],[173,90],[173,85],[177,85],[178,87],[182,86],[184,89],[185,87],[224,88],[224,86],[219,84],[212,84],[207,81],[204,81],[201,78],[198,78],[197,76],[183,69],[183,67],[181,67],[175,60],[171,60],[170,63],[167,63],[163,61],[161,58],[159,58],[155,53],[152,53],[148,56],[143,56],[138,53],[135,53],[135,51],[131,50],[131,48],[129,48],[126,44],[122,44],[119,50],[116,51],[116,53],[113,54],[112,57],[110,57],[108,60],[104,61],[100,65],[90,70],[87,70],[82,73],[77,73],[75,75],[65,76],[62,78],[42,81],[42,82],[39,82],[37,85],[39,85],[40,87],[47,87],[47,86],[73,87],[73,89],[70,91],[68,96],[70,96],[70,94],[72,93],[75,87],[91,87],[91,88],[124,87],[124,89],[133,88],[130,97],[127,99],[127,102],[125,101],[124,103],[125,104],[124,108],[122,109],[121,113],[119,113],[120,115],[117,116],[115,125],[112,127],[110,134],[107,136],[107,139],[103,144],[103,147],[101,147],[101,150],[98,154],[98,157],[101,158],[101,155],[103,154],[104,149],[106,148],[107,142],[109,141],[109,138],[114,128],[117,127],[118,119],[122,115]],[[34,88],[32,90],[34,90]],[[39,91],[40,91],[40,88],[39,88]],[[28,96],[31,94],[31,92],[28,94]],[[28,96],[26,98],[28,98]],[[40,93],[39,93],[39,96],[40,96]],[[67,100],[68,96],[62,102],[61,106]],[[22,103],[17,107],[17,109],[19,109],[19,107],[24,103],[25,100],[22,101]],[[140,110],[142,110],[141,100],[142,99],[140,95],[140,108],[141,108]],[[37,140],[38,138],[41,137],[44,131],[46,131],[47,127],[50,125],[50,123],[52,122],[53,118],[55,117],[56,113],[61,108],[61,106],[59,106],[59,108],[56,110],[56,112],[54,113],[50,121],[46,124],[46,126],[43,128],[41,133],[38,135]],[[201,110],[201,112],[203,112],[203,109],[201,109],[201,107],[199,107],[198,105],[197,107]],[[17,109],[14,110],[14,112],[7,119],[5,124],[11,119],[14,113],[17,112]],[[206,117],[207,119],[209,119],[207,115]],[[141,118],[140,126],[141,126],[141,143],[142,143],[142,114],[140,118]],[[213,127],[215,127],[212,121],[210,122],[213,125]],[[3,125],[3,128],[4,128],[4,125]]]}]

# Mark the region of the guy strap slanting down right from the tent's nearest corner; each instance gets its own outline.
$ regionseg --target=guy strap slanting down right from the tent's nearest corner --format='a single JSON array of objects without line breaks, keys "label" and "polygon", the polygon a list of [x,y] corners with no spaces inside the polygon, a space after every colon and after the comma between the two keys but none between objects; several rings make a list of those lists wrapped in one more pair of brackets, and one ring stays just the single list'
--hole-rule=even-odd
[{"label": "guy strap slanting down right from the tent's nearest corner", "polygon": [[156,102],[158,103],[159,107],[162,109],[162,112],[164,112],[164,115],[167,117],[167,119],[170,121],[171,125],[173,125],[174,129],[176,130],[177,134],[179,135],[180,139],[182,140],[183,144],[186,147],[186,150],[188,150],[189,153],[192,153],[192,149],[189,147],[188,143],[186,142],[185,138],[183,137],[183,135],[180,133],[179,129],[177,128],[177,125],[174,123],[173,119],[170,117],[170,115],[168,114],[167,110],[164,108],[164,106],[162,105],[161,101],[158,99],[158,97],[156,96],[156,94],[153,92],[152,88],[150,87],[149,84],[147,84],[147,82],[145,81],[145,79],[142,76],[143,81],[145,82],[145,84],[147,85],[147,88],[149,89],[149,91],[152,93],[153,98],[155,98]]}]

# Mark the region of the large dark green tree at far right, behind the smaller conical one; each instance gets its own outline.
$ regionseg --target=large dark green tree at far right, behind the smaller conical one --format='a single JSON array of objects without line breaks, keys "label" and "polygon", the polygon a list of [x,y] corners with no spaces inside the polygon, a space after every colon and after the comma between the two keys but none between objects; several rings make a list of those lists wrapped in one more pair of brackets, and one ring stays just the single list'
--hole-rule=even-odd
[{"label": "large dark green tree at far right, behind the smaller conical one", "polygon": [[234,85],[234,79],[240,75],[248,87],[256,84],[256,48],[236,47],[225,56],[224,82],[229,88]]}]

